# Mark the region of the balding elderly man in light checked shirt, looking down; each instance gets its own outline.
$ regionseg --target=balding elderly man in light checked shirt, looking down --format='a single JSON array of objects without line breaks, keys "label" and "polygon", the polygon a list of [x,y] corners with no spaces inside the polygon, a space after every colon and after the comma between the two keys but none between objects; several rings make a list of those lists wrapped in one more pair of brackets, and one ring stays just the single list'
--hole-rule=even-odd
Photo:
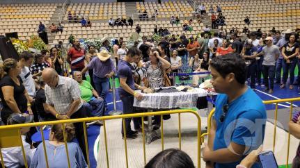
[{"label": "balding elderly man in light checked shirt, looking down", "polygon": [[[51,112],[56,119],[86,117],[86,110],[81,101],[81,92],[77,81],[59,76],[55,69],[49,67],[42,71],[42,80],[47,84],[45,86],[46,111]],[[84,143],[84,126],[82,123],[74,123],[74,126],[79,146],[87,160],[86,149],[88,146]]]}]

